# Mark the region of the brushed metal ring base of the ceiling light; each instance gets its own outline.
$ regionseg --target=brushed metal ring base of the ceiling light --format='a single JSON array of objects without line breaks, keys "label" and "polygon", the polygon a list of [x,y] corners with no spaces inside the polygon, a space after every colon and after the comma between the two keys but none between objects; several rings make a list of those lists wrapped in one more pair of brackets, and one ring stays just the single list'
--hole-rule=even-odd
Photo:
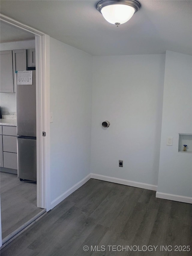
[{"label": "brushed metal ring base of the ceiling light", "polygon": [[107,6],[107,5],[128,5],[128,6],[131,6],[135,9],[135,13],[141,7],[140,3],[135,1],[135,0],[127,0],[127,1],[123,1],[123,0],[102,0],[102,1],[98,2],[98,4],[97,4],[98,11],[101,13],[102,8]]}]

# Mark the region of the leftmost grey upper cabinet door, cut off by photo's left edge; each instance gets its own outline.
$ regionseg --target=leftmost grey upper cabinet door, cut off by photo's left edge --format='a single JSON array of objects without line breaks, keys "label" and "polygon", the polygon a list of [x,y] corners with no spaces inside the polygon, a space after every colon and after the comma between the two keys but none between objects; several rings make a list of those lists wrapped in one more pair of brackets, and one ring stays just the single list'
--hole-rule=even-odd
[{"label": "leftmost grey upper cabinet door, cut off by photo's left edge", "polygon": [[13,92],[12,51],[1,51],[0,92]]}]

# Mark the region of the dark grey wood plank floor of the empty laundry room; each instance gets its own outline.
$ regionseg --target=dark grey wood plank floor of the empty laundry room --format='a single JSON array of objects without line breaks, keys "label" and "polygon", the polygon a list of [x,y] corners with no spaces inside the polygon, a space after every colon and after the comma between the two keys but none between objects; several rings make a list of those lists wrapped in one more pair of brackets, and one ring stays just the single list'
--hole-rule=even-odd
[{"label": "dark grey wood plank floor of the empty laundry room", "polygon": [[[98,251],[91,251],[91,245],[98,245]],[[117,251],[110,245],[121,247]],[[172,251],[162,251],[161,245],[170,245]],[[178,250],[188,245],[190,251],[175,251],[177,245],[183,246]],[[1,256],[180,256],[191,251],[191,204],[156,198],[151,190],[90,179],[4,247]]]}]

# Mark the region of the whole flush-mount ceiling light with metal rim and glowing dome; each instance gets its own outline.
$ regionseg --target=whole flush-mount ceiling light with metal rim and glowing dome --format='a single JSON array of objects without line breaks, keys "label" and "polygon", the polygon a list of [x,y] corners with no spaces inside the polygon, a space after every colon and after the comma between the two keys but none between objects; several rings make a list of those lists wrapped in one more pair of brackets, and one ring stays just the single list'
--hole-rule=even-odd
[{"label": "whole flush-mount ceiling light with metal rim and glowing dome", "polygon": [[140,7],[140,3],[135,0],[102,0],[97,4],[97,9],[103,17],[117,27],[130,20]]}]

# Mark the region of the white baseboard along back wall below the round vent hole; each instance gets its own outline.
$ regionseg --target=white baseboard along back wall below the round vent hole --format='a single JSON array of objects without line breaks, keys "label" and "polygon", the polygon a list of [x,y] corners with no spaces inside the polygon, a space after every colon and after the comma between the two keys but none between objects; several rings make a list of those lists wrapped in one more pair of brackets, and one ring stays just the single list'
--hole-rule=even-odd
[{"label": "white baseboard along back wall below the round vent hole", "polygon": [[91,178],[100,179],[100,180],[104,180],[104,181],[109,181],[109,182],[113,182],[113,183],[131,186],[131,187],[136,187],[136,188],[145,188],[145,189],[157,191],[156,185],[131,181],[131,180],[127,180],[127,179],[113,178],[113,177],[104,176],[104,175],[95,174],[95,173],[91,173]]}]

